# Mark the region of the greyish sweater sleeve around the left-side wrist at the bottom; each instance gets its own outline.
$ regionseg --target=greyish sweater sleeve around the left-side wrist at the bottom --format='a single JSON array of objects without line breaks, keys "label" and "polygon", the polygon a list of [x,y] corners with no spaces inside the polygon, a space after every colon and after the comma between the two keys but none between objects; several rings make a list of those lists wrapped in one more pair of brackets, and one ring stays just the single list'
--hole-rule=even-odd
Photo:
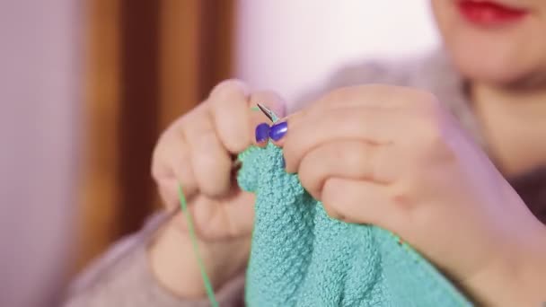
[{"label": "greyish sweater sleeve around the left-side wrist at the bottom", "polygon": [[[154,279],[147,245],[170,215],[155,215],[136,234],[116,243],[78,276],[65,296],[64,307],[201,307],[208,300],[183,300]],[[222,307],[243,306],[244,274],[234,277],[216,292]]]}]

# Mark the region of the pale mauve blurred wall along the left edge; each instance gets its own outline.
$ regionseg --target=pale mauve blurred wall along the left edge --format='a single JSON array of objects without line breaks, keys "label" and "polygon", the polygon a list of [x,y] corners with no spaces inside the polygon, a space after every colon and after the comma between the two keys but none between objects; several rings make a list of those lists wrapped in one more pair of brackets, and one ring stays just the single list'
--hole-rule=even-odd
[{"label": "pale mauve blurred wall along the left edge", "polygon": [[72,0],[0,1],[0,306],[48,306],[75,237],[83,29]]}]

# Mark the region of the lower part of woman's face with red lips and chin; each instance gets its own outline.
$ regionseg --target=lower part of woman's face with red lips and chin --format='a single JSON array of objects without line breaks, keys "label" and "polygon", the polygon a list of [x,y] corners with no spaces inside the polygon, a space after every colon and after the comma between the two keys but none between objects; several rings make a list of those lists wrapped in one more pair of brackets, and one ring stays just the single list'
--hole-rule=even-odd
[{"label": "lower part of woman's face with red lips and chin", "polygon": [[546,0],[431,0],[462,75],[495,86],[546,88]]}]

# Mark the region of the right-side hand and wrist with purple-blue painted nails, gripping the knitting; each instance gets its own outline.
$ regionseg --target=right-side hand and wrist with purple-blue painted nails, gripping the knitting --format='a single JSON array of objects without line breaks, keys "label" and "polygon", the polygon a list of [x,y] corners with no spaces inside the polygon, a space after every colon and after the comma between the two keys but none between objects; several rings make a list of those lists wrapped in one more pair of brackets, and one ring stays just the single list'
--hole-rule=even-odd
[{"label": "right-side hand and wrist with purple-blue painted nails, gripping the knitting", "polygon": [[286,122],[286,171],[330,216],[397,233],[483,303],[546,300],[542,224],[433,95],[350,87]]}]

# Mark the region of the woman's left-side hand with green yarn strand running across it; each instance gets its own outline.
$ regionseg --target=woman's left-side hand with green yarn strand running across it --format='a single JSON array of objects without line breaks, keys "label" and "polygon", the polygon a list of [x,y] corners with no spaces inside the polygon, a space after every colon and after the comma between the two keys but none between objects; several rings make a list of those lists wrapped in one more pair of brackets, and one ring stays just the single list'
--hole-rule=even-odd
[{"label": "woman's left-side hand with green yarn strand running across it", "polygon": [[[180,182],[201,256],[216,288],[244,268],[250,251],[254,197],[239,189],[233,159],[256,144],[254,127],[268,120],[251,111],[257,102],[284,113],[284,103],[272,92],[251,93],[238,81],[220,83],[207,101],[163,133],[154,150],[152,174],[163,203],[169,211],[180,207]],[[150,259],[154,275],[173,293],[205,296],[181,212],[150,248]]]}]

